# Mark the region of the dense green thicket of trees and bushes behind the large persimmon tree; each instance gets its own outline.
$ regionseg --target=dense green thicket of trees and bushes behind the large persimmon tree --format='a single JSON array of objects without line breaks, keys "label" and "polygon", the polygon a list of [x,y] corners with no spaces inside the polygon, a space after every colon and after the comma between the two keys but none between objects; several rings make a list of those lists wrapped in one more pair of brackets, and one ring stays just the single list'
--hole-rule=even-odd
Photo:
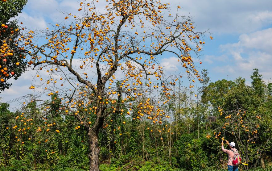
[{"label": "dense green thicket of trees and bushes behind the large persimmon tree", "polygon": [[[263,84],[262,81],[258,83]],[[246,115],[243,116],[244,125],[247,127],[252,125],[252,129],[255,129],[255,124],[260,125],[258,128],[260,134],[254,139],[255,144],[251,142],[247,144],[249,166],[254,168],[256,164],[258,167],[260,158],[268,156],[267,161],[269,161],[272,152],[270,86],[264,86],[266,87],[264,93],[259,96],[258,89],[246,85],[245,79],[216,81],[204,86],[203,98],[198,101],[191,98],[192,91],[186,88],[176,90],[175,96],[179,99],[174,100],[172,96],[169,100],[170,105],[164,105],[162,108],[166,115],[169,115],[170,111],[171,119],[173,119],[171,123],[168,120],[162,120],[162,124],[153,124],[150,120],[133,119],[138,116],[137,110],[132,110],[129,117],[109,115],[105,118],[110,121],[109,124],[99,132],[100,170],[223,171],[222,167],[225,167],[228,156],[220,149],[221,140],[213,137],[206,138],[206,136],[212,135],[215,128],[220,128],[226,140],[235,141],[237,146],[240,146],[241,143],[247,143],[248,132],[245,132],[245,128],[236,122],[236,127],[243,130],[241,142],[236,142],[232,129],[227,126],[222,128],[228,119],[225,119],[225,115],[218,113],[218,106],[225,111],[235,110],[239,106],[246,111]],[[40,115],[36,102],[33,101],[22,111],[16,112],[8,110],[9,104],[0,103],[0,146],[3,147],[0,148],[0,171],[34,170],[35,159],[38,171],[86,171],[89,169],[87,132],[82,127],[75,129],[80,122],[74,116],[56,115],[55,111],[61,106],[57,94],[52,95],[50,102],[54,102],[54,105],[51,106],[51,112],[44,116],[47,119],[33,118],[34,127],[31,127],[26,134],[18,134],[16,129],[12,129],[20,121],[15,117],[19,117],[22,112],[25,113],[24,115]],[[212,110],[209,110],[208,106]],[[126,112],[127,109],[123,109],[123,113]],[[218,116],[216,122],[207,122],[205,120],[207,115]],[[256,115],[262,119],[258,119]],[[93,122],[95,117],[89,119]],[[124,121],[126,124],[123,123]],[[52,132],[45,131],[47,128],[45,126],[54,122],[56,126],[50,127]],[[229,123],[235,125],[234,121]],[[44,126],[43,131],[37,131],[38,126],[42,128]],[[55,133],[56,129],[60,130],[60,133]],[[20,139],[24,140],[24,144],[17,141],[16,135],[21,136]],[[28,140],[28,138],[31,139]],[[239,150],[243,151],[242,148]],[[245,160],[245,152],[241,154],[242,159]],[[255,170],[264,171],[258,168]]]}]

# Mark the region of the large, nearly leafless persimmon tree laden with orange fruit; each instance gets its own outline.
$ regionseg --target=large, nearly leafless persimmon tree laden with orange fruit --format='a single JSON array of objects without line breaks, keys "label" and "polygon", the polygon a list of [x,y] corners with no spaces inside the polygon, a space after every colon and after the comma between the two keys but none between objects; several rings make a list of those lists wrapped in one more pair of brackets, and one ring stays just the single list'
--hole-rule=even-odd
[{"label": "large, nearly leafless persimmon tree laden with orange fruit", "polygon": [[[170,14],[169,3],[106,0],[105,10],[98,10],[97,2],[82,1],[81,15],[64,13],[66,21],[40,33],[24,29],[16,41],[36,72],[30,89],[38,87],[39,95],[57,97],[51,102],[36,99],[40,110],[21,115],[18,120],[26,124],[15,130],[39,117],[44,123],[38,131],[60,133],[51,116],[74,116],[75,129],[83,128],[89,137],[90,171],[99,170],[98,134],[112,118],[130,115],[133,109],[138,111],[134,119],[147,118],[154,124],[169,117],[160,109],[160,101],[155,105],[152,100],[157,90],[168,99],[171,94],[159,56],[177,57],[190,82],[201,80],[193,56],[198,58],[206,33],[197,32],[190,17]],[[150,98],[143,99],[144,94]],[[118,128],[114,132],[122,136]]]}]

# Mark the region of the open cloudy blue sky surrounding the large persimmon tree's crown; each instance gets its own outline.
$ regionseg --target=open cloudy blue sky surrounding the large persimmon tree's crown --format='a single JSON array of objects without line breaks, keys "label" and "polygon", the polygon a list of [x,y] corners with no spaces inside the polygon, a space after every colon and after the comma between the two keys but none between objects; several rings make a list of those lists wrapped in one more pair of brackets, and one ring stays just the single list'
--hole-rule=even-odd
[{"label": "open cloudy blue sky surrounding the large persimmon tree's crown", "polygon": [[[102,0],[99,0],[103,4]],[[198,63],[199,70],[208,69],[212,81],[221,79],[233,80],[239,76],[250,83],[253,68],[260,69],[265,81],[272,78],[272,2],[271,0],[172,0],[172,11],[177,6],[180,15],[190,15],[196,23],[198,31],[209,29],[214,37],[205,38],[204,51]],[[103,8],[100,5],[98,8]],[[32,30],[44,29],[63,20],[60,10],[77,14],[76,0],[28,0],[22,14],[18,16],[27,28]],[[173,12],[175,13],[175,12]],[[181,66],[176,58],[164,55],[162,66],[168,73],[180,72]],[[35,73],[27,72],[14,81],[9,90],[0,94],[2,102],[32,94],[29,90]],[[227,76],[229,75],[229,76]],[[185,83],[186,84],[186,83]],[[16,106],[18,103],[12,104]]]}]

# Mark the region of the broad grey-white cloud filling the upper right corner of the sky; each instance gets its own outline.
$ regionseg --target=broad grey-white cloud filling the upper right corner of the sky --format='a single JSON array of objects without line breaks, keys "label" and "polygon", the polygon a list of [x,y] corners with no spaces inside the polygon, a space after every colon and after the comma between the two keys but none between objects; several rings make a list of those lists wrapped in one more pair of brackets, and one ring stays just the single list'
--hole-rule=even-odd
[{"label": "broad grey-white cloud filling the upper right corner of the sky", "polygon": [[210,28],[212,33],[249,33],[272,23],[270,0],[172,1],[172,11],[177,5],[182,7],[180,14],[193,17],[198,30]]}]

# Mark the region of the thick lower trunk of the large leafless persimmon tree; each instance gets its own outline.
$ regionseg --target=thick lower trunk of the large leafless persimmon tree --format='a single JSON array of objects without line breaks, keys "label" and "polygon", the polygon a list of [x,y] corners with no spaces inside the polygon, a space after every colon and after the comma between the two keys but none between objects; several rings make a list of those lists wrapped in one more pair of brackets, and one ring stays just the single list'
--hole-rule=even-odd
[{"label": "thick lower trunk of the large leafless persimmon tree", "polygon": [[89,162],[90,167],[89,171],[99,171],[99,152],[100,149],[98,147],[98,130],[93,131],[89,130]]}]

